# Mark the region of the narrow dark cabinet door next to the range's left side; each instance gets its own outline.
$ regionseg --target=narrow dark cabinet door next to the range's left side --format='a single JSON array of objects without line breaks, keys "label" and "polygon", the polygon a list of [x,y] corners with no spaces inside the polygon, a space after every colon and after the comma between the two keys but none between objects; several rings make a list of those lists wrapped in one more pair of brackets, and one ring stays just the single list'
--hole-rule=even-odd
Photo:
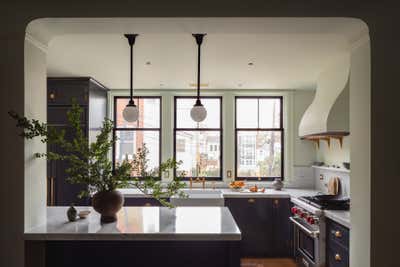
[{"label": "narrow dark cabinet door next to the range's left side", "polygon": [[290,217],[290,199],[277,198],[272,200],[272,210],[274,218],[274,257],[291,257],[293,234]]}]

